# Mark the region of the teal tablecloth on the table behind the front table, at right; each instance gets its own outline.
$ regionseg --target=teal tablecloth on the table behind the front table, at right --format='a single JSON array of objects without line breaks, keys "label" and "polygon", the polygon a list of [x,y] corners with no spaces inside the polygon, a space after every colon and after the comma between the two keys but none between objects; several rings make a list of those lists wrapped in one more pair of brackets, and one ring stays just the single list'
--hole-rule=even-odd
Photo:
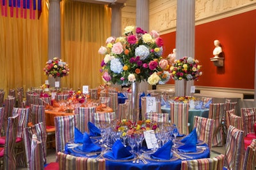
[{"label": "teal tablecloth on the table behind the front table, at right", "polygon": [[[161,107],[161,111],[163,113],[169,113],[170,115],[170,108],[166,108],[164,106]],[[205,117],[208,118],[209,117],[209,109],[202,109],[202,110],[188,110],[188,123],[189,125],[189,132],[191,132],[193,130],[194,127],[194,117],[198,116],[198,117]]]}]

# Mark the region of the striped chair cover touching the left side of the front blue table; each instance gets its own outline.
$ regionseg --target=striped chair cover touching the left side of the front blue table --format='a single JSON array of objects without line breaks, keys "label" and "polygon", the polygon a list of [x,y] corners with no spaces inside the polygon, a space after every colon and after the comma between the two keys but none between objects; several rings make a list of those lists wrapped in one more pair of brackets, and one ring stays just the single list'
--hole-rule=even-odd
[{"label": "striped chair cover touching the left side of the front blue table", "polygon": [[56,129],[56,153],[58,153],[65,150],[67,139],[74,138],[76,118],[74,115],[54,117],[54,124]]}]

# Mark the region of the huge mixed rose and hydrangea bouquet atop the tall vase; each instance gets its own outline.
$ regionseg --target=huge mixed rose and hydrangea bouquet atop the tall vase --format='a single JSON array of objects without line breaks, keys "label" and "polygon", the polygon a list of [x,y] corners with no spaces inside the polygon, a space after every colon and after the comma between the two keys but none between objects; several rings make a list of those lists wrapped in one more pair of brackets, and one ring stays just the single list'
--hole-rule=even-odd
[{"label": "huge mixed rose and hydrangea bouquet atop the tall vase", "polygon": [[148,81],[150,85],[164,84],[170,79],[165,71],[168,60],[161,57],[163,39],[156,31],[147,33],[140,27],[125,27],[124,36],[106,40],[99,53],[105,55],[100,71],[103,80],[119,85],[128,85],[134,81]]}]

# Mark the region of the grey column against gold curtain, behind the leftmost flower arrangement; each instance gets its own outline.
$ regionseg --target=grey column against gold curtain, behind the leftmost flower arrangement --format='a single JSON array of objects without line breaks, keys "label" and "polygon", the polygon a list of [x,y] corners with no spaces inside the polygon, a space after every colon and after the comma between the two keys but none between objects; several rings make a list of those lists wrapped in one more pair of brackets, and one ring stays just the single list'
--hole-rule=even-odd
[{"label": "grey column against gold curtain, behind the leftmost flower arrangement", "polygon": [[[49,0],[49,37],[48,37],[48,59],[61,58],[60,37],[60,1]],[[54,87],[54,78],[49,78],[49,84]]]}]

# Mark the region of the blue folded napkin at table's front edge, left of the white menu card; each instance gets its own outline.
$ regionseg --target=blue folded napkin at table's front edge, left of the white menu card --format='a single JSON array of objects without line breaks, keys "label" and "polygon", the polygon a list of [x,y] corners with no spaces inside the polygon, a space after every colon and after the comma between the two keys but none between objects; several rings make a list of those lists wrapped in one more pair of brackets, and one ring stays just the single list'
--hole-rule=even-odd
[{"label": "blue folded napkin at table's front edge, left of the white menu card", "polygon": [[108,159],[118,159],[118,160],[127,160],[133,159],[134,155],[127,150],[127,148],[122,144],[122,142],[117,139],[114,145],[112,146],[112,151],[109,151],[104,154],[104,157]]}]

